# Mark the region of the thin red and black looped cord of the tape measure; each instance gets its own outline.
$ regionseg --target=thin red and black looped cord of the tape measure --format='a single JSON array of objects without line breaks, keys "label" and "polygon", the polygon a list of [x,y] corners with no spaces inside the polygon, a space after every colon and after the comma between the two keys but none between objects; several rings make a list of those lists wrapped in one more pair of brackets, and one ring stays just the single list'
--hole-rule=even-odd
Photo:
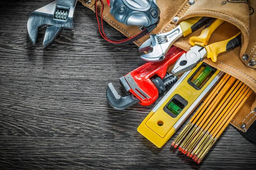
[{"label": "thin red and black looped cord of the tape measure", "polygon": [[101,22],[99,22],[99,17],[98,17],[98,10],[97,10],[97,2],[99,0],[95,1],[95,14],[96,14],[96,20],[99,26],[99,33],[101,34],[101,36],[108,42],[112,43],[112,44],[116,44],[116,45],[125,45],[125,44],[130,44],[133,43],[136,40],[139,40],[141,37],[145,36],[146,34],[148,34],[148,30],[145,28],[143,29],[143,31],[141,31],[139,34],[135,35],[134,37],[130,37],[130,38],[126,38],[124,40],[111,40],[109,39],[103,29],[103,9],[104,9],[104,4],[103,4],[103,0],[100,0],[101,4],[102,4],[102,10],[101,10]]}]

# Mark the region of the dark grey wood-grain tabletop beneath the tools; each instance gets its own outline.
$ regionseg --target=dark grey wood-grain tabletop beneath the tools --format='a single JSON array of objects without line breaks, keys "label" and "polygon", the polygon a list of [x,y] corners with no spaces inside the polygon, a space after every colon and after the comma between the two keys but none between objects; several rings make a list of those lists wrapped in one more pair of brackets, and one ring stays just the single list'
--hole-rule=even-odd
[{"label": "dark grey wood-grain tabletop beneath the tools", "polygon": [[200,165],[171,147],[177,134],[161,149],[151,144],[137,127],[153,106],[115,111],[105,96],[109,82],[121,91],[119,77],[144,63],[136,45],[103,40],[94,13],[78,3],[74,32],[62,31],[43,49],[44,28],[32,46],[29,14],[51,2],[1,1],[1,170],[256,169],[256,145],[231,125]]}]

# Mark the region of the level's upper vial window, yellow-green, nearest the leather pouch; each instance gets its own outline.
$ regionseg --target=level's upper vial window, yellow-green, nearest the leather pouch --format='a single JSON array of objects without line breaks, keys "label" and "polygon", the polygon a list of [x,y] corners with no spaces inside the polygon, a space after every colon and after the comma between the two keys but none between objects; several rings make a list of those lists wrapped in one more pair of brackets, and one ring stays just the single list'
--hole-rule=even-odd
[{"label": "level's upper vial window, yellow-green, nearest the leather pouch", "polygon": [[188,79],[189,85],[196,90],[200,90],[204,87],[205,83],[212,77],[217,69],[203,63],[195,71],[195,73]]}]

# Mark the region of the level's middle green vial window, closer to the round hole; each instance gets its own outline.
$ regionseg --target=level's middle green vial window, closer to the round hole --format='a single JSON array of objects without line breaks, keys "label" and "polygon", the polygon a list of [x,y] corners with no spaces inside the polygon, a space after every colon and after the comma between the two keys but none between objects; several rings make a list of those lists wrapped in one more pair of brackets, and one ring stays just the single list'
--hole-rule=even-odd
[{"label": "level's middle green vial window, closer to the round hole", "polygon": [[173,118],[177,117],[183,108],[186,107],[188,102],[179,94],[175,94],[172,99],[167,103],[163,110]]}]

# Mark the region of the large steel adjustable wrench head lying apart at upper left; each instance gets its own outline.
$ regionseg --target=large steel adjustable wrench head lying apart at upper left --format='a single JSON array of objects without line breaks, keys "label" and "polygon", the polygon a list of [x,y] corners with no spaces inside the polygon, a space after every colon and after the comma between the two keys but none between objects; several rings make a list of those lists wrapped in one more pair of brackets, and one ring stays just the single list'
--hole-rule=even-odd
[{"label": "large steel adjustable wrench head lying apart at upper left", "polygon": [[27,23],[27,31],[32,44],[36,44],[38,27],[47,26],[43,46],[47,47],[63,29],[74,29],[74,11],[77,0],[55,0],[32,12]]}]

